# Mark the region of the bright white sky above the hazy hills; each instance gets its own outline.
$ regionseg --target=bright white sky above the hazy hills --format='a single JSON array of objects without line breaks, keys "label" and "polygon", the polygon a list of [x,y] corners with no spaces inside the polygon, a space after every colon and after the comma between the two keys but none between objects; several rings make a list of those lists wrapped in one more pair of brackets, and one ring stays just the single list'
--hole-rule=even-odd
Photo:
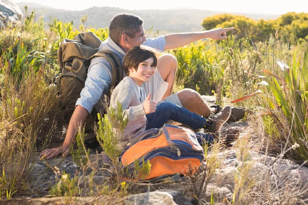
[{"label": "bright white sky above the hazy hills", "polygon": [[93,6],[108,6],[128,10],[190,8],[241,13],[284,14],[289,11],[308,13],[307,0],[13,0],[13,2],[29,2],[57,9],[70,10],[84,10]]}]

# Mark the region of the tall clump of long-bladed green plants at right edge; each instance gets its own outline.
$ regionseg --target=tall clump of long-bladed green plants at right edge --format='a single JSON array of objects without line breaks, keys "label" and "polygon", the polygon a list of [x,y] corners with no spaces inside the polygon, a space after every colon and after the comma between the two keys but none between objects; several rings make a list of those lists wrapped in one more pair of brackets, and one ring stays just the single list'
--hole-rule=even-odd
[{"label": "tall clump of long-bladed green plants at right edge", "polygon": [[[282,53],[283,48],[277,33],[276,41],[272,46],[272,53],[268,53],[267,47],[267,55],[261,55],[264,57],[262,57],[263,75],[250,74],[263,80],[258,83],[262,86],[261,90],[264,93],[260,96],[259,105],[268,109],[267,114],[272,118],[274,128],[278,128],[276,133],[272,126],[272,132],[267,134],[278,137],[285,145],[283,150],[298,144],[298,149],[289,149],[291,152],[289,156],[297,160],[306,160],[308,157],[308,84],[306,82],[308,47],[299,57],[294,50],[291,58],[290,54]],[[286,63],[280,60],[281,58]],[[270,119],[266,117],[264,120]]]}]

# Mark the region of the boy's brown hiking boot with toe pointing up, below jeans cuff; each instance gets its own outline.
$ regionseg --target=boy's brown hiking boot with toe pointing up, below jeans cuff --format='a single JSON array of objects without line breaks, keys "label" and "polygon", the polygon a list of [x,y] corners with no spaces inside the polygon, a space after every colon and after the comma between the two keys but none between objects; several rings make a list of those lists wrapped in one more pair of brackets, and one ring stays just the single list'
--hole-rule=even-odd
[{"label": "boy's brown hiking boot with toe pointing up, below jeans cuff", "polygon": [[225,106],[219,113],[214,115],[213,118],[210,118],[212,120],[212,125],[207,131],[216,132],[219,130],[219,128],[230,118],[231,112],[231,106]]}]

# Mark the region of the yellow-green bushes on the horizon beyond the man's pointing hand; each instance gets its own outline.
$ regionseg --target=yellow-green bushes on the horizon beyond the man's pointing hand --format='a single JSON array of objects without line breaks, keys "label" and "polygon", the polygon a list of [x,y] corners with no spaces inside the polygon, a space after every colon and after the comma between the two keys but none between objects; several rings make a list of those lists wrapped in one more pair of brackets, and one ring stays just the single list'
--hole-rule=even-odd
[{"label": "yellow-green bushes on the horizon beyond the man's pointing hand", "polygon": [[277,19],[270,20],[254,20],[242,15],[219,14],[205,18],[202,26],[205,30],[235,27],[233,34],[237,40],[249,36],[254,42],[268,40],[269,36],[278,29],[283,36],[286,36],[287,41],[296,45],[297,42],[308,40],[307,19],[307,13],[295,12],[288,12]]}]

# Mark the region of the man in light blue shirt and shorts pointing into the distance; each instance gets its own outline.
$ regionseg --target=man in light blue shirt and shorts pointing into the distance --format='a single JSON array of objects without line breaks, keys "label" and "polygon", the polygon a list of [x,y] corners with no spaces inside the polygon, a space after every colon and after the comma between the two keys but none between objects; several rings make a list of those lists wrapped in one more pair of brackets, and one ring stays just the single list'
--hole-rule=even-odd
[{"label": "man in light blue shirt and shorts pointing into the distance", "polygon": [[[112,18],[109,25],[109,37],[101,44],[99,49],[113,51],[122,61],[125,53],[134,46],[143,44],[163,52],[166,49],[179,48],[203,38],[226,39],[226,32],[233,29],[218,28],[209,31],[173,33],[147,39],[144,35],[143,20],[136,15],[121,13]],[[152,94],[152,100],[156,100],[158,104],[171,101],[205,117],[208,117],[211,112],[215,114],[218,112],[216,108],[210,108],[200,94],[194,90],[184,89],[171,95],[177,71],[177,59],[174,55],[163,54],[160,56],[157,69],[158,71],[155,72],[151,81],[143,84],[146,93]],[[76,107],[69,121],[63,145],[58,148],[44,150],[41,156],[45,155],[47,159],[50,159],[57,154],[64,153],[66,155],[69,152],[76,128],[84,124],[102,94],[108,93],[111,72],[111,65],[106,58],[96,57],[91,60],[85,87],[81,92],[81,97],[76,101]]]}]

